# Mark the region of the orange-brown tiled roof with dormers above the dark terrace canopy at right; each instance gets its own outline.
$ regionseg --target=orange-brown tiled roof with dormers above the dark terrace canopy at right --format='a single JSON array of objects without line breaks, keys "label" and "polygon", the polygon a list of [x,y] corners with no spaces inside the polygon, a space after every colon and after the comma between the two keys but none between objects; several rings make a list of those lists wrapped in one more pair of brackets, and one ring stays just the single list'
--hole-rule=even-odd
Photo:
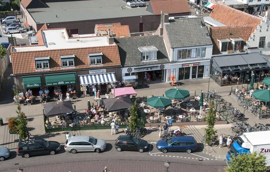
[{"label": "orange-brown tiled roof with dormers above the dark terrace canopy at right", "polygon": [[[243,38],[246,42],[249,38],[249,34],[252,32],[251,25],[244,26],[225,26],[225,27],[211,27],[210,34],[212,37],[213,54],[220,54],[219,41],[218,39],[230,39],[230,38]],[[242,49],[244,44],[242,44]],[[232,46],[229,44],[228,53],[233,53]]]}]

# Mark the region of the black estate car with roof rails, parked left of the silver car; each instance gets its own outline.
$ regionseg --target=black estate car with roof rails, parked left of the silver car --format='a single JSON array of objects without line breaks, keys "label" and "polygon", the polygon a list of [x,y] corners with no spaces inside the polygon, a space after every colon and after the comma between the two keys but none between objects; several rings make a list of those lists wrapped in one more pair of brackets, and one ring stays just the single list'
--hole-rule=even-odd
[{"label": "black estate car with roof rails, parked left of the silver car", "polygon": [[46,141],[43,139],[29,139],[18,143],[17,154],[29,158],[32,155],[54,155],[60,149],[61,145],[58,142]]}]

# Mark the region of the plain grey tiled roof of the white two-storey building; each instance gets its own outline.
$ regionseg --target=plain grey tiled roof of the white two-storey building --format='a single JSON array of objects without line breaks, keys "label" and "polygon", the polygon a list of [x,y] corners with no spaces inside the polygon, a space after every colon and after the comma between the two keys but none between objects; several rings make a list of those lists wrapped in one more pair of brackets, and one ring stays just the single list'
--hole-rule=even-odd
[{"label": "plain grey tiled roof of the white two-storey building", "polygon": [[[180,18],[165,24],[172,48],[212,45],[203,18]],[[208,35],[208,36],[207,36]]]}]

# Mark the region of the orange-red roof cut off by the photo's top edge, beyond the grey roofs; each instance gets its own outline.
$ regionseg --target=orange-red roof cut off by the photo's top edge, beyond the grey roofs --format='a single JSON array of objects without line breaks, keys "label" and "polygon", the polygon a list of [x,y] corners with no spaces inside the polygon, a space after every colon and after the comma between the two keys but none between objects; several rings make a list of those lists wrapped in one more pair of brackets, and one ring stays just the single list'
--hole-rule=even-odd
[{"label": "orange-red roof cut off by the photo's top edge, beyond the grey roofs", "polygon": [[147,8],[152,8],[155,15],[163,13],[176,14],[190,12],[187,0],[150,0]]}]

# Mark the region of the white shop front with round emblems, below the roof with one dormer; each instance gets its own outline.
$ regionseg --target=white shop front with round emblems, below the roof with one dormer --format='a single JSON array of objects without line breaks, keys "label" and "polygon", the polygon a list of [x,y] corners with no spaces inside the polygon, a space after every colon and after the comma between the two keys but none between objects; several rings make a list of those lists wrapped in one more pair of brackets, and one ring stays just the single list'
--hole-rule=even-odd
[{"label": "white shop front with round emblems, below the roof with one dormer", "polygon": [[136,76],[138,86],[166,82],[166,65],[155,64],[151,66],[124,67],[122,68],[122,81],[124,82],[127,76]]}]

